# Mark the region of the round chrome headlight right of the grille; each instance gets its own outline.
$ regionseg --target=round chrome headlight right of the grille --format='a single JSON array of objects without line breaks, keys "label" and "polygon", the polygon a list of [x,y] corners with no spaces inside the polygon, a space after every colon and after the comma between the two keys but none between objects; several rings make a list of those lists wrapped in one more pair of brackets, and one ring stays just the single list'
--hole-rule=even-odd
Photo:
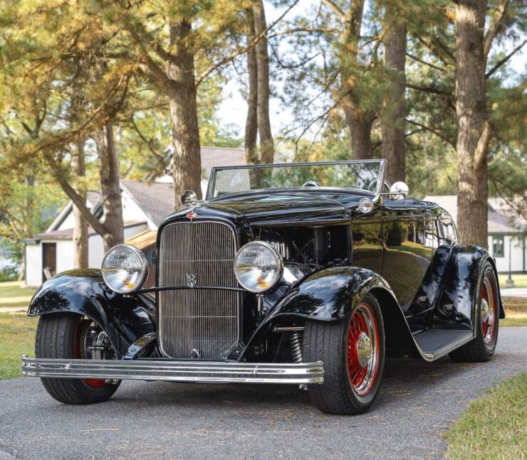
[{"label": "round chrome headlight right of the grille", "polygon": [[282,257],[266,242],[247,243],[234,260],[236,279],[251,292],[265,292],[273,288],[281,279],[282,272]]}]

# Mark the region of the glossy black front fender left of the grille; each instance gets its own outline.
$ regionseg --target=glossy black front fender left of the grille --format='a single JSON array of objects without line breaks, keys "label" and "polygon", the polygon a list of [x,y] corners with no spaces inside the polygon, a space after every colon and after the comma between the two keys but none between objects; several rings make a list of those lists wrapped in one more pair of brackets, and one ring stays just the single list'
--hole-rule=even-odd
[{"label": "glossy black front fender left of the grille", "polygon": [[128,346],[155,332],[155,306],[147,296],[122,296],[110,290],[98,269],[71,270],[48,279],[33,295],[28,316],[69,311],[98,323],[114,348],[124,355]]}]

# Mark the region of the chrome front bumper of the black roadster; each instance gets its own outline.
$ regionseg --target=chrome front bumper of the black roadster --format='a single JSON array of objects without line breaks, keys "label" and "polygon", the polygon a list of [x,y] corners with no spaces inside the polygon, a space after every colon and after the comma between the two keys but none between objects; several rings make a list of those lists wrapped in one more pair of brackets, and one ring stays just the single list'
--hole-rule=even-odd
[{"label": "chrome front bumper of the black roadster", "polygon": [[22,356],[31,377],[166,380],[196,383],[323,383],[323,363],[224,363],[171,360],[85,360]]}]

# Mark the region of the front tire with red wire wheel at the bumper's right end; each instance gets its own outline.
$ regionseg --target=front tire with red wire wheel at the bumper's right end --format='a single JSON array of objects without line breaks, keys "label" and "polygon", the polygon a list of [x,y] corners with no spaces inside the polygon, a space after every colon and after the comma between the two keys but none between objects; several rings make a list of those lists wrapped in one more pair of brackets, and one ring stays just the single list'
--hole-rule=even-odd
[{"label": "front tire with red wire wheel at the bumper's right end", "polygon": [[308,385],[320,411],[365,412],[377,397],[385,365],[385,332],[377,299],[366,294],[343,321],[306,321],[303,355],[306,363],[324,363],[324,383]]}]

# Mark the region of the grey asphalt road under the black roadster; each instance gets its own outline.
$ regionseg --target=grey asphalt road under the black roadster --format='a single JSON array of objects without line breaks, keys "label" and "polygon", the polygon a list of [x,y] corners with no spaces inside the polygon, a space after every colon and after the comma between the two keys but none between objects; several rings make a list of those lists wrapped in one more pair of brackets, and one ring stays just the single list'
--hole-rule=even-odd
[{"label": "grey asphalt road under the black roadster", "polygon": [[497,380],[527,370],[527,327],[502,328],[489,363],[389,360],[355,417],[321,414],[276,385],[122,383],[99,405],[61,405],[38,379],[0,382],[0,460],[442,458],[442,433]]}]

